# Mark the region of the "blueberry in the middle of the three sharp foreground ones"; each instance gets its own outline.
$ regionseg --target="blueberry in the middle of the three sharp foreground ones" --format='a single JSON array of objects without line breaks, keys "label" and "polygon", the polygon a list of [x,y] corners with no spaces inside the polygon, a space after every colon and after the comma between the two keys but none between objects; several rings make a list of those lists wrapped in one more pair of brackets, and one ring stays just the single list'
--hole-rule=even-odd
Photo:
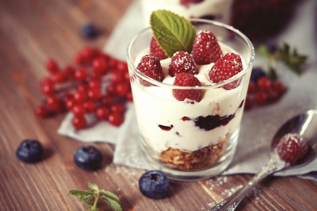
[{"label": "blueberry in the middle of the three sharp foreground ones", "polygon": [[84,170],[97,170],[102,162],[101,152],[92,145],[79,147],[74,154],[76,165]]}]

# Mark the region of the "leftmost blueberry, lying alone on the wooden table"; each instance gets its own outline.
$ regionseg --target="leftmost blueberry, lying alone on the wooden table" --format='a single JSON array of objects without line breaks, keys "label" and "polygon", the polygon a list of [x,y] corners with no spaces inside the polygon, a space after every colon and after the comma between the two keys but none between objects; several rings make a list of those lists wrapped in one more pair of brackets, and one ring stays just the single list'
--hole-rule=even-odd
[{"label": "leftmost blueberry, lying alone on the wooden table", "polygon": [[34,163],[42,159],[43,147],[37,140],[26,139],[21,142],[16,154],[19,160]]}]

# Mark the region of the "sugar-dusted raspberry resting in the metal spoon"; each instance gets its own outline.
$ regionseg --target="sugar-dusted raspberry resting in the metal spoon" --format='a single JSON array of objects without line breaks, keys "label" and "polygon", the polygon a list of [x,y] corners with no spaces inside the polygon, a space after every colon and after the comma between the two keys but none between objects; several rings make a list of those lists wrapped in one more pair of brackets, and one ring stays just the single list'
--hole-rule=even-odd
[{"label": "sugar-dusted raspberry resting in the metal spoon", "polygon": [[276,146],[280,158],[286,162],[296,162],[302,159],[308,150],[303,137],[295,133],[286,134]]}]

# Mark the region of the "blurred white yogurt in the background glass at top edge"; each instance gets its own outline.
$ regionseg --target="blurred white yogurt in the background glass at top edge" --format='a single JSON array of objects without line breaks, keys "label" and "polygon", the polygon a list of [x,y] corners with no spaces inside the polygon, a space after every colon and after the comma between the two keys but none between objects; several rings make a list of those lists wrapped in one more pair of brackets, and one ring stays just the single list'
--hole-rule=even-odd
[{"label": "blurred white yogurt in the background glass at top edge", "polygon": [[226,24],[230,22],[231,3],[232,0],[205,0],[186,7],[180,4],[180,0],[141,0],[144,20],[149,20],[153,11],[163,9],[172,11],[187,19],[213,16],[214,20]]}]

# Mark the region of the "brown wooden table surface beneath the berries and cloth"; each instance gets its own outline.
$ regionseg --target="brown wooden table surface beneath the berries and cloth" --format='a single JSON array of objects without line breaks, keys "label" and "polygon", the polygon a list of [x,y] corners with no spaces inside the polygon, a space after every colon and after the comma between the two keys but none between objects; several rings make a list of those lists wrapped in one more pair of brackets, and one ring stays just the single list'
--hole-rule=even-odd
[{"label": "brown wooden table surface beneath the berries and cloth", "polygon": [[[0,210],[88,210],[71,189],[87,181],[116,193],[123,210],[208,210],[252,175],[218,176],[199,182],[171,183],[168,196],[144,197],[138,179],[144,171],[112,163],[114,146],[94,143],[104,155],[102,168],[86,172],[73,162],[82,142],[57,134],[65,114],[39,118],[34,107],[44,99],[39,81],[44,63],[73,61],[84,46],[102,47],[132,0],[0,1]],[[84,39],[80,28],[93,22],[102,34]],[[26,164],[16,157],[24,139],[37,139],[44,160]],[[236,210],[317,210],[317,182],[270,177],[251,191]],[[111,210],[104,206],[101,210]]]}]

